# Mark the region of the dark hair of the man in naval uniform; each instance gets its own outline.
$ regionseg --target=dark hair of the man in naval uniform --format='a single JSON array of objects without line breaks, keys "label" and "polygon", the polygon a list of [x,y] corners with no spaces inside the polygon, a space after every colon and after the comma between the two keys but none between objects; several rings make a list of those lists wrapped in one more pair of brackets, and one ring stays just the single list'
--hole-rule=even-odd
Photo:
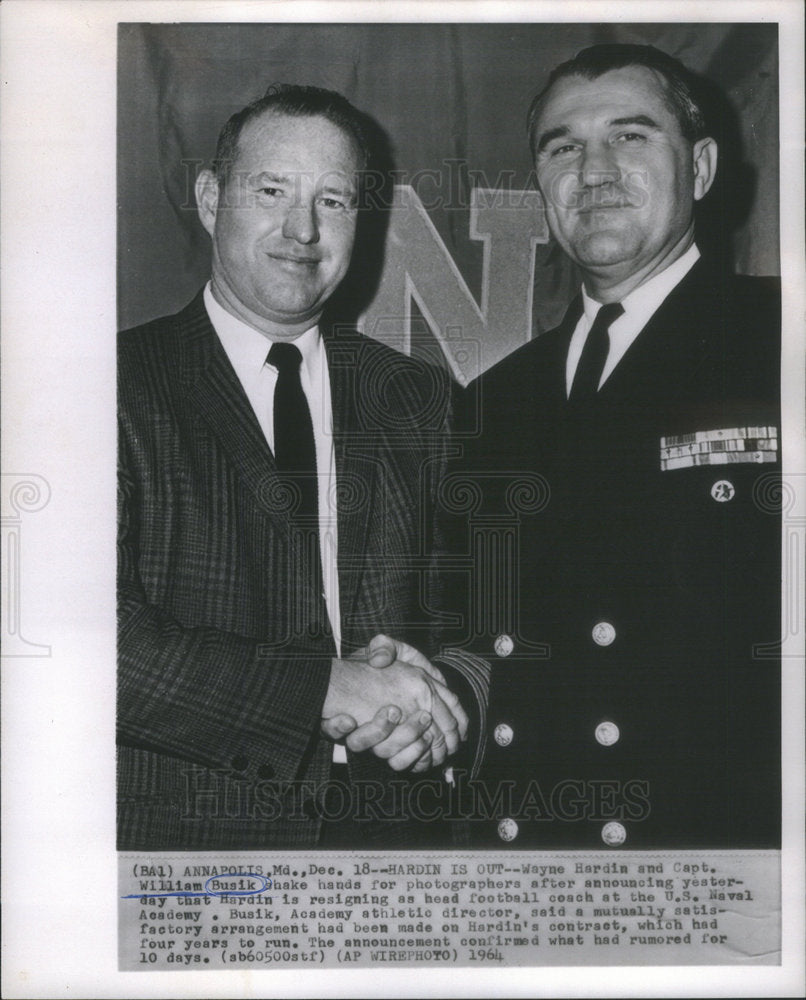
[{"label": "dark hair of the man in naval uniform", "polygon": [[531,148],[534,150],[540,106],[558,80],[567,76],[582,76],[586,80],[595,80],[612,69],[624,69],[627,66],[645,66],[663,77],[669,105],[684,138],[696,142],[707,134],[705,117],[697,96],[699,89],[697,78],[693,73],[677,59],[652,45],[613,43],[591,45],[590,48],[578,52],[573,59],[560,63],[552,70],[548,83],[529,106],[526,121]]}]

